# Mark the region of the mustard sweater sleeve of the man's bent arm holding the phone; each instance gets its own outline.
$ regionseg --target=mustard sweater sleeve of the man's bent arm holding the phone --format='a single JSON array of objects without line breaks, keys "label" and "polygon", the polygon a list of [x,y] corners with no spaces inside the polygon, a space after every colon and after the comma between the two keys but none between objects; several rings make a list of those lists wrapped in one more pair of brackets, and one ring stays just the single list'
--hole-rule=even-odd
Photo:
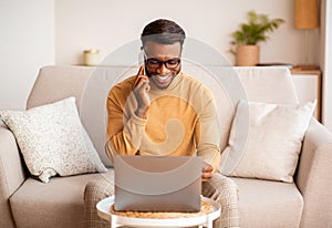
[{"label": "mustard sweater sleeve of the man's bent arm holding the phone", "polygon": [[135,155],[147,120],[134,114],[136,100],[129,89],[114,86],[107,96],[107,142],[105,151],[113,163],[115,154]]}]

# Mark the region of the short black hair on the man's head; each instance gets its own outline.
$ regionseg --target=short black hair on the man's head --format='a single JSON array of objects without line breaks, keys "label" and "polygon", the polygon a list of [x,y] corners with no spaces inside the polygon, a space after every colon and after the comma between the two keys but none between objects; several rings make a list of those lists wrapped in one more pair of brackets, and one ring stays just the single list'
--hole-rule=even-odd
[{"label": "short black hair on the man's head", "polygon": [[154,41],[162,44],[174,44],[179,42],[183,46],[186,33],[177,23],[167,19],[158,19],[148,23],[141,35],[142,44]]}]

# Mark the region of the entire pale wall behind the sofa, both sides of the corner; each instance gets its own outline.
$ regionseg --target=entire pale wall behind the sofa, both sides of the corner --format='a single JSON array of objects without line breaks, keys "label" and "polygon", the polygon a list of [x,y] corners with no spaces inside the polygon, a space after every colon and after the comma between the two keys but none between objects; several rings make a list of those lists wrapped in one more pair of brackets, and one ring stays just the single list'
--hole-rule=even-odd
[{"label": "entire pale wall behind the sofa, both sides of the corner", "polygon": [[[144,25],[157,18],[177,21],[188,37],[234,61],[227,53],[229,34],[251,9],[287,21],[261,43],[261,62],[303,62],[304,32],[293,29],[290,0],[1,0],[0,108],[24,108],[42,65],[80,64],[82,51],[90,48],[100,49],[104,56],[138,39]],[[310,35],[311,62],[319,63],[319,30]]]}]

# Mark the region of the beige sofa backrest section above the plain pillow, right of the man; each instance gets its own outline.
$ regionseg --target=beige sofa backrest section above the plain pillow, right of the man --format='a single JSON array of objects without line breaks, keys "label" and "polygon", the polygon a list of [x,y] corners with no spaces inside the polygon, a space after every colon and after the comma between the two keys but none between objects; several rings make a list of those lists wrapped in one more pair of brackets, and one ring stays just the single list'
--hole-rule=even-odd
[{"label": "beige sofa backrest section above the plain pillow, right of the man", "polygon": [[220,148],[228,144],[239,100],[276,104],[299,104],[290,71],[282,66],[184,68],[214,93],[220,124]]}]

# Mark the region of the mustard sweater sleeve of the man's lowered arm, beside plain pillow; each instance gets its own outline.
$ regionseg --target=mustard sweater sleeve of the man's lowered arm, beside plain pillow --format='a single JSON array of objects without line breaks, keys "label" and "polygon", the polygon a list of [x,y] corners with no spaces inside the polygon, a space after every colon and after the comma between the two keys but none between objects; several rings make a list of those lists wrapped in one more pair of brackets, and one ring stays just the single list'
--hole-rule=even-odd
[{"label": "mustard sweater sleeve of the man's lowered arm, beside plain pillow", "polygon": [[197,155],[204,162],[214,167],[214,172],[219,169],[220,163],[220,129],[216,112],[215,99],[210,91],[203,90],[199,97],[200,111],[199,120],[195,126],[195,139]]}]

